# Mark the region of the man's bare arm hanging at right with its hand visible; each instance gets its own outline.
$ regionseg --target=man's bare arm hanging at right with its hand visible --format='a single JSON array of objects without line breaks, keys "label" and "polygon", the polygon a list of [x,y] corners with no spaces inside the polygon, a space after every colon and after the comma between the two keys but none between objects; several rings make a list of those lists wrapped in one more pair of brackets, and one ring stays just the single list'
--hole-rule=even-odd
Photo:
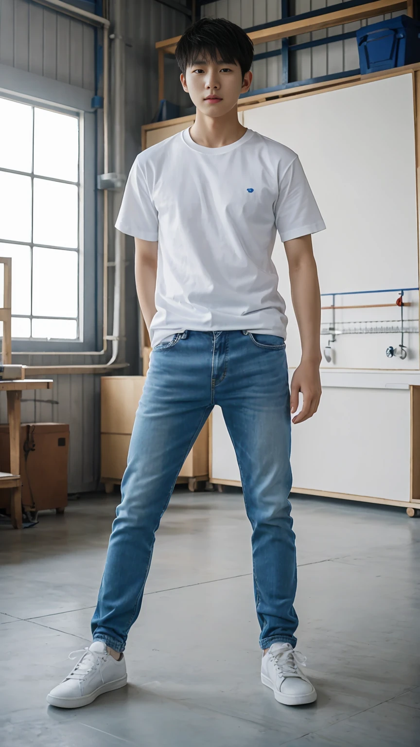
[{"label": "man's bare arm hanging at right with its hand visible", "polygon": [[319,366],[321,350],[321,296],[318,272],[312,252],[311,235],[284,242],[291,285],[291,300],[297,318],[302,346],[300,365],[291,379],[290,409],[296,412],[299,392],[303,394],[303,408],[292,423],[303,423],[317,411],[321,398]]}]

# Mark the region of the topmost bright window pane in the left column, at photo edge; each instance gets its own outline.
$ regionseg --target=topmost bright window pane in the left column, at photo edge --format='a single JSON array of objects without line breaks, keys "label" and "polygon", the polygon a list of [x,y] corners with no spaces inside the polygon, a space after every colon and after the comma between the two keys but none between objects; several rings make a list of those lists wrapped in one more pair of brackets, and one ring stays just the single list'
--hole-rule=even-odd
[{"label": "topmost bright window pane in the left column, at photo edge", "polygon": [[0,99],[0,167],[32,170],[32,107]]}]

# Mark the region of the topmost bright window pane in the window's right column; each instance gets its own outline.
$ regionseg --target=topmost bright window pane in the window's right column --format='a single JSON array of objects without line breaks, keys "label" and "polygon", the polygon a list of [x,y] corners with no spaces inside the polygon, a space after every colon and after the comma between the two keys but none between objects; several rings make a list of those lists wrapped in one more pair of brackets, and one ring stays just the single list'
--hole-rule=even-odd
[{"label": "topmost bright window pane in the window's right column", "polygon": [[78,118],[34,109],[34,173],[78,182]]}]

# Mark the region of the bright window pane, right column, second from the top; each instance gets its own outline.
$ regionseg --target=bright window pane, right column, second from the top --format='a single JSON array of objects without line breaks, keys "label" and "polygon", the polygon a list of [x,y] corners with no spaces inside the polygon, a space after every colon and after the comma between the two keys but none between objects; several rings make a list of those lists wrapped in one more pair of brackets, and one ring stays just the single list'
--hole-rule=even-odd
[{"label": "bright window pane, right column, second from the top", "polygon": [[34,244],[77,249],[78,187],[34,179]]}]

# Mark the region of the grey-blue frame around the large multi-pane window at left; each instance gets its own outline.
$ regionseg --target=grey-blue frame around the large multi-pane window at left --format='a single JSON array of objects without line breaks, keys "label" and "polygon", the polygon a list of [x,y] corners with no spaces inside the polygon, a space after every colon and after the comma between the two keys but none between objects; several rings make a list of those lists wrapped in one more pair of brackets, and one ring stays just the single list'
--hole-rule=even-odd
[{"label": "grey-blue frame around the large multi-pane window at left", "polygon": [[[30,78],[33,76],[27,74]],[[48,81],[51,82],[51,81]],[[55,81],[54,81],[55,82]],[[16,90],[0,88],[0,96],[10,101],[16,101],[22,104],[30,105],[56,111],[59,114],[70,114],[78,117],[79,125],[79,162],[78,162],[78,338],[69,339],[52,339],[45,338],[12,338],[13,353],[63,353],[72,355],[72,353],[83,353],[84,351],[96,350],[98,343],[102,338],[102,303],[98,308],[97,297],[98,288],[100,288],[99,268],[100,261],[98,257],[98,238],[99,238],[99,215],[97,205],[97,121],[96,110],[83,108],[81,106],[67,105],[62,100],[67,98],[65,89],[75,87],[68,84],[61,84],[64,88],[64,96],[61,94],[57,98],[61,102],[54,102],[50,98],[44,99],[40,96],[28,96],[25,93],[18,93]],[[89,92],[83,91],[89,95]],[[71,98],[78,98],[72,96]],[[86,97],[83,96],[86,100]],[[33,170],[34,164],[32,164]],[[4,171],[10,170],[4,169]],[[13,171],[11,172],[13,173]],[[32,171],[32,180],[36,178]],[[46,177],[48,179],[48,177]],[[52,179],[52,181],[54,181]],[[34,238],[33,236],[31,237]],[[10,244],[13,242],[6,239],[0,241],[1,244]],[[28,242],[21,241],[16,244],[28,245]],[[30,243],[34,246],[33,241]],[[37,244],[36,244],[37,245]],[[60,249],[60,247],[57,247]],[[13,276],[13,266],[12,266]],[[32,278],[31,278],[32,282]],[[44,317],[43,317],[44,318]],[[52,317],[58,318],[58,317]]]}]

